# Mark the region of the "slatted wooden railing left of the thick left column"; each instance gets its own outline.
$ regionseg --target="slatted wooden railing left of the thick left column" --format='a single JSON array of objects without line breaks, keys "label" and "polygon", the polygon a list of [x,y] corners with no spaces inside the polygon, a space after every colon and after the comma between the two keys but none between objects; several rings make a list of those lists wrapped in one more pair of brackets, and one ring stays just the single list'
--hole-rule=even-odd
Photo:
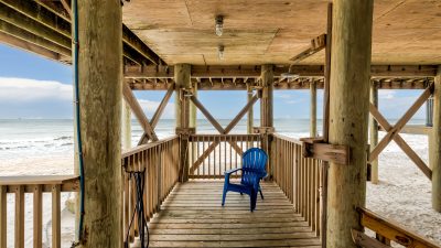
[{"label": "slatted wooden railing left of the thick left column", "polygon": [[[14,231],[13,247],[24,248],[25,195],[33,195],[33,247],[43,244],[43,194],[52,194],[52,245],[61,247],[61,192],[78,191],[78,176],[74,175],[37,175],[37,176],[1,176],[0,177],[0,247],[12,247],[8,244],[8,194],[14,195]],[[49,245],[49,244],[47,244]]]}]

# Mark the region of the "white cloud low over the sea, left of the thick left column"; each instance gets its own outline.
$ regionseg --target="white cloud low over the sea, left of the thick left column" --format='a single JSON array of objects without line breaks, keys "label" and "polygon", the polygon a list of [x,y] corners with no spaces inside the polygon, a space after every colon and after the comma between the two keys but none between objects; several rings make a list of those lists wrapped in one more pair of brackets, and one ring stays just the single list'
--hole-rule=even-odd
[{"label": "white cloud low over the sea, left of the thick left column", "polygon": [[54,80],[0,77],[0,101],[30,103],[73,99],[72,85]]}]

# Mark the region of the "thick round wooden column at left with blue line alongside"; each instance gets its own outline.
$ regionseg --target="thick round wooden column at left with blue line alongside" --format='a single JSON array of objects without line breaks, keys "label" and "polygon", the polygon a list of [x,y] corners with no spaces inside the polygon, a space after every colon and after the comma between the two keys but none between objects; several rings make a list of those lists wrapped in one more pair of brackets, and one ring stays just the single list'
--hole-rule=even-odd
[{"label": "thick round wooden column at left with blue line alongside", "polygon": [[78,0],[85,215],[80,247],[120,248],[122,40],[119,0]]}]

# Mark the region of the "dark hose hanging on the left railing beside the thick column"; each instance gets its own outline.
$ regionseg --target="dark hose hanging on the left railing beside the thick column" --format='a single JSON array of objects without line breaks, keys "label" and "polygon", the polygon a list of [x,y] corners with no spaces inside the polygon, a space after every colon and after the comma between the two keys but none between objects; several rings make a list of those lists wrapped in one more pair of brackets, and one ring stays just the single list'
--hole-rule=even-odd
[{"label": "dark hose hanging on the left railing beside the thick column", "polygon": [[[127,229],[127,235],[126,235],[126,242],[125,242],[125,248],[129,248],[129,234],[130,234],[130,227],[133,224],[135,215],[138,213],[138,230],[139,230],[139,238],[140,238],[140,248],[148,248],[149,247],[149,227],[147,226],[147,220],[146,220],[146,214],[144,214],[144,202],[143,202],[143,195],[144,195],[144,184],[146,184],[146,169],[143,171],[137,171],[137,172],[127,172],[130,174],[129,179],[131,180],[132,177],[135,179],[135,184],[136,184],[136,204],[135,204],[135,209],[133,209],[133,215],[131,216],[131,220],[129,224],[129,228]],[[147,230],[147,244],[146,242],[146,231]]]}]

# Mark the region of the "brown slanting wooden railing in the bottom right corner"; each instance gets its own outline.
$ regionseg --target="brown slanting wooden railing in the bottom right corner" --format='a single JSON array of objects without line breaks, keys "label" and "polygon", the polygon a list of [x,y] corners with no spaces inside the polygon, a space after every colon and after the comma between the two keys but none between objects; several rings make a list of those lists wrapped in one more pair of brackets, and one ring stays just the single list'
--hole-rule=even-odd
[{"label": "brown slanting wooden railing in the bottom right corner", "polygon": [[417,235],[415,231],[407,230],[399,224],[378,214],[365,208],[357,208],[357,211],[361,214],[362,226],[373,230],[376,236],[376,239],[374,239],[363,233],[352,230],[354,242],[361,247],[390,247],[390,241],[394,241],[402,247],[440,248],[440,246],[429,241],[427,238]]}]

